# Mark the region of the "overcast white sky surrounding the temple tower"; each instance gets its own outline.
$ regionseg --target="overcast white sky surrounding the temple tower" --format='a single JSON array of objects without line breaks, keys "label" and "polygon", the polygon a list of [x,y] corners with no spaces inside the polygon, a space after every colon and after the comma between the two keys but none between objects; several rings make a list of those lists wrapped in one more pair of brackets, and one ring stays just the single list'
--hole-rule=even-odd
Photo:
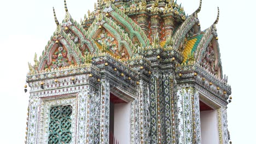
[{"label": "overcast white sky surrounding the temple tower", "polygon": [[[27,62],[38,57],[55,31],[53,8],[61,22],[63,0],[0,0],[0,141],[24,143],[28,94],[24,93]],[[80,21],[94,1],[67,0],[72,17]],[[187,14],[199,0],[177,0]],[[253,0],[203,0],[199,13],[201,28],[212,25],[220,8],[217,25],[223,72],[229,76],[232,103],[228,105],[228,128],[233,143],[255,142],[255,5]]]}]

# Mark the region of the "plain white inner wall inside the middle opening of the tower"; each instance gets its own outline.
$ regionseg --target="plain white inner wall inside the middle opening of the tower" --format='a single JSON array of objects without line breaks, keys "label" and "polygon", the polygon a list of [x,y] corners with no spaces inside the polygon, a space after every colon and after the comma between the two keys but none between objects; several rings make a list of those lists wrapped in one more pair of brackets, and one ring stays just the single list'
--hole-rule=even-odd
[{"label": "plain white inner wall inside the middle opening of the tower", "polygon": [[114,136],[121,144],[130,144],[130,103],[114,106]]}]

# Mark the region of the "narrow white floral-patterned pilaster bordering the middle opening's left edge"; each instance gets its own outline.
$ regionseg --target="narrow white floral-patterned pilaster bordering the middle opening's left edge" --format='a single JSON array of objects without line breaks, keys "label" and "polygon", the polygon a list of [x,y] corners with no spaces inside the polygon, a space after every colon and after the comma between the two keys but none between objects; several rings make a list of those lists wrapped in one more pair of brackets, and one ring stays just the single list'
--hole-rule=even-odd
[{"label": "narrow white floral-patterned pilaster bordering the middle opening's left edge", "polygon": [[109,80],[101,80],[100,143],[109,143]]}]

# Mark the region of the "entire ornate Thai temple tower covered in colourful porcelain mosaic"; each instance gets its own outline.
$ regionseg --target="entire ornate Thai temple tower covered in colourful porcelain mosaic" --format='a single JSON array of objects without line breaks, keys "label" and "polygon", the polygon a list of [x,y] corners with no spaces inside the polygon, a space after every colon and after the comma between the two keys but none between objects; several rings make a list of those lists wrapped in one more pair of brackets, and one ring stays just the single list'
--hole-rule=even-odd
[{"label": "entire ornate Thai temple tower covered in colourful porcelain mosaic", "polygon": [[231,143],[219,10],[201,31],[201,3],[186,16],[173,0],[98,0],[77,22],[65,1],[28,63],[25,143]]}]

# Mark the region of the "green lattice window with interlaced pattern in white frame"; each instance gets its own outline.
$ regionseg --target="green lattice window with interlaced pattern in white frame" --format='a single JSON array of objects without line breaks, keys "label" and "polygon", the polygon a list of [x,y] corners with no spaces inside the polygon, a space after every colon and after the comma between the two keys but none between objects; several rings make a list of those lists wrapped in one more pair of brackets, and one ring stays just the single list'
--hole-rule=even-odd
[{"label": "green lattice window with interlaced pattern in white frame", "polygon": [[48,143],[71,143],[71,115],[71,105],[51,107]]}]

